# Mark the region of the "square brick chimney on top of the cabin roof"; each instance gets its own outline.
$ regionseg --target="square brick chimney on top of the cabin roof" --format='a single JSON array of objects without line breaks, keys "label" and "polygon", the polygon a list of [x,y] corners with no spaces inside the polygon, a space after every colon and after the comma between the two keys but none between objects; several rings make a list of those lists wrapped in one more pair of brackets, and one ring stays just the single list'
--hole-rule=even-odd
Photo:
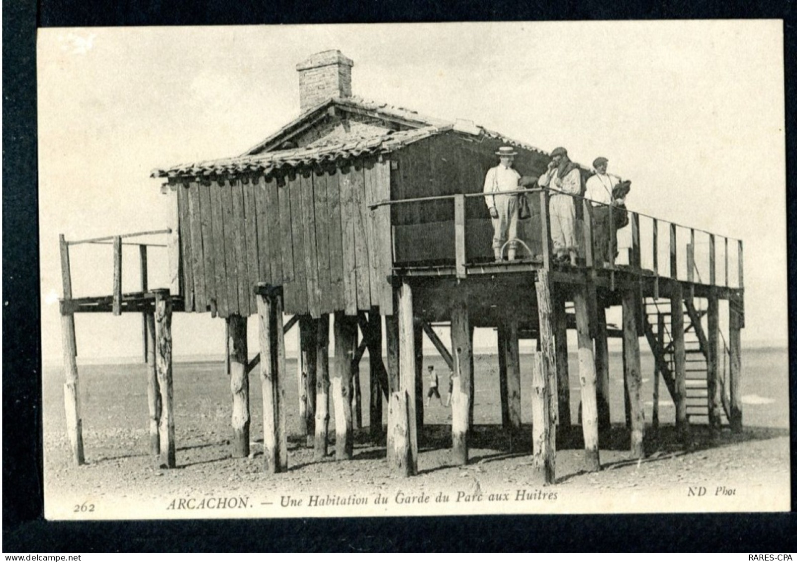
[{"label": "square brick chimney on top of the cabin roof", "polygon": [[354,61],[337,49],[316,53],[296,64],[301,111],[304,113],[332,97],[351,96],[352,66]]}]

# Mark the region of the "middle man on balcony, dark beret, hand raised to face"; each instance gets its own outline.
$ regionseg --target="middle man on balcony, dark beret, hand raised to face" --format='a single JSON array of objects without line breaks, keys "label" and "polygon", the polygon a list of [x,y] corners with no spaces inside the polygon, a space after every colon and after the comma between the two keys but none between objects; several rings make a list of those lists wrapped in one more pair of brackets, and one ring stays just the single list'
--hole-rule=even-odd
[{"label": "middle man on balcony, dark beret, hand raised to face", "polygon": [[551,153],[548,170],[537,182],[550,187],[551,199],[548,210],[551,213],[551,240],[556,260],[576,265],[578,243],[575,236],[575,201],[573,195],[581,193],[581,172],[561,146]]}]

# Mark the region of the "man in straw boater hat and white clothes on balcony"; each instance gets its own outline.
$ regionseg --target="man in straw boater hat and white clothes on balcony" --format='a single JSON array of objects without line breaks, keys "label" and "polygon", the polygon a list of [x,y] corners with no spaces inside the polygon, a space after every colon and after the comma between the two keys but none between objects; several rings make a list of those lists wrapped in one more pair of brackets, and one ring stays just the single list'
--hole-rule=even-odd
[{"label": "man in straw boater hat and white clothes on balcony", "polygon": [[493,219],[493,255],[501,261],[501,247],[508,240],[508,258],[515,259],[517,247],[517,195],[497,195],[502,191],[516,191],[520,174],[512,168],[516,151],[512,146],[501,146],[496,152],[501,163],[490,168],[485,177],[485,203]]}]

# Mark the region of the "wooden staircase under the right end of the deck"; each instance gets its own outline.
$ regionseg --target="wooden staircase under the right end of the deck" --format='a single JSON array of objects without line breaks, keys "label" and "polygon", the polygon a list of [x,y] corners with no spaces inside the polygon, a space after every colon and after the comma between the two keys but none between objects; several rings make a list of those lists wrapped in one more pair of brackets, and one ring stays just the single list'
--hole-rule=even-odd
[{"label": "wooden staircase under the right end of the deck", "polygon": [[[690,423],[709,423],[709,345],[701,324],[706,314],[697,308],[690,299],[681,303],[681,310],[675,314],[684,316],[684,346],[686,355],[686,414]],[[645,335],[663,361],[659,365],[662,380],[670,396],[675,401],[675,359],[672,334],[672,315],[669,299],[646,299],[644,328]],[[724,386],[720,377],[720,388],[724,400]],[[720,410],[723,423],[727,414]]]}]

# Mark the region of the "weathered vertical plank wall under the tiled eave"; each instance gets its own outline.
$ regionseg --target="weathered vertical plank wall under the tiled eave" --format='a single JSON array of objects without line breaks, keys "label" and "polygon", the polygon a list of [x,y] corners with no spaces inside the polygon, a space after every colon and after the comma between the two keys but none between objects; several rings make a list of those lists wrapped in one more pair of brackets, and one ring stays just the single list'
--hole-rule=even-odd
[{"label": "weathered vertical plank wall under the tiled eave", "polygon": [[177,187],[186,311],[249,316],[253,287],[281,285],[285,313],[392,314],[390,162]]}]

